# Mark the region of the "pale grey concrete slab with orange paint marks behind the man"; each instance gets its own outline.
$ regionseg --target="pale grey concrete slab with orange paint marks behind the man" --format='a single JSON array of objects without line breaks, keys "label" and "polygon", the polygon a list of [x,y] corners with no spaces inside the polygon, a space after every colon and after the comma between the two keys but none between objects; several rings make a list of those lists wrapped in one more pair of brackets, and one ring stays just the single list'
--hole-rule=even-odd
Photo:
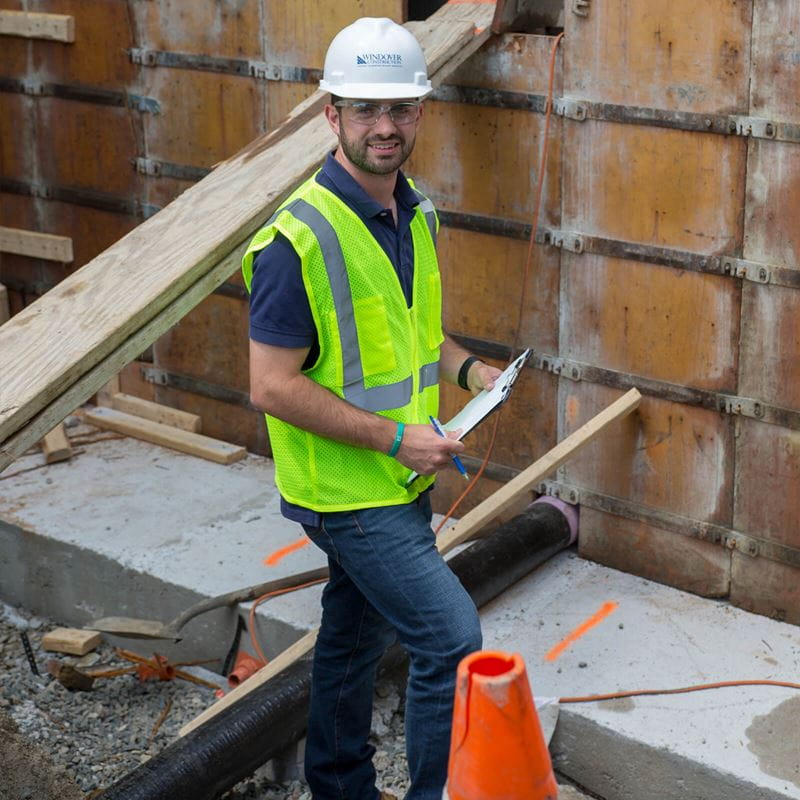
[{"label": "pale grey concrete slab with orange paint marks behind the man", "polygon": [[[301,536],[280,516],[268,459],[219,466],[132,439],[83,448],[41,468],[32,454],[0,475],[0,599],[76,625],[111,614],[167,621],[198,599],[322,563],[306,547],[264,565]],[[317,624],[319,593],[260,607],[268,655]],[[545,659],[607,601],[618,603],[609,617]],[[539,700],[798,679],[797,627],[574,551],[519,582],[482,619],[486,647],[519,651]],[[178,655],[224,651],[232,624],[230,611],[190,623]],[[557,769],[606,800],[800,800],[800,692],[739,687],[559,709]]]}]

